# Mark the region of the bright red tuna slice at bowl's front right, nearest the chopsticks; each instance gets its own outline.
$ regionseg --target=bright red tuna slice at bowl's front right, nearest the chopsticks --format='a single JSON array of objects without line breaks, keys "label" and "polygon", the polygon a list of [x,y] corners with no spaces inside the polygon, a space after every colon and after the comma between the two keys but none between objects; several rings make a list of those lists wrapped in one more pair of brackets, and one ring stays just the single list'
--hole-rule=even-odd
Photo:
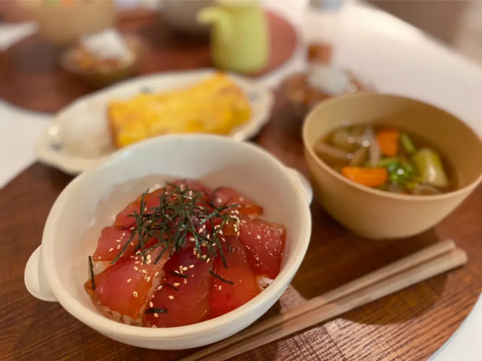
[{"label": "bright red tuna slice at bowl's front right, nearest the chopsticks", "polygon": [[217,277],[212,277],[211,295],[209,299],[211,318],[221,316],[227,312],[244,305],[260,293],[255,274],[250,268],[246,248],[236,236],[224,237],[229,242],[232,252],[223,245],[224,257],[227,268],[224,268],[221,258],[214,261],[214,272],[226,283]]}]

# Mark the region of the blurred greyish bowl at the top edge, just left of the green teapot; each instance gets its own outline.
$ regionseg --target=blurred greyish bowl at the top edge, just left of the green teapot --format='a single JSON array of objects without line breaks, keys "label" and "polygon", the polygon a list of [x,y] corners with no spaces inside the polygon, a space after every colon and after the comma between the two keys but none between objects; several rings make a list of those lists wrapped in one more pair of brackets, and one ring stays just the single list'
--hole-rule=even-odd
[{"label": "blurred greyish bowl at the top edge, just left of the green teapot", "polygon": [[196,14],[199,10],[213,5],[213,0],[164,0],[161,3],[161,16],[180,33],[208,37],[210,27],[200,24],[196,20]]}]

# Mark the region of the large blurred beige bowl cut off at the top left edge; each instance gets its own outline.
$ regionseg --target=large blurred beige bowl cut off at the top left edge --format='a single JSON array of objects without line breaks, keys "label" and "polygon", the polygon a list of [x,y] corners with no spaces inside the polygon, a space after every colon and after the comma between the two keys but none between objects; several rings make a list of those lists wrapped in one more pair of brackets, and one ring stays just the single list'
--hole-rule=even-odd
[{"label": "large blurred beige bowl cut off at the top left edge", "polygon": [[40,34],[55,45],[71,45],[82,35],[115,26],[116,9],[112,0],[18,3],[39,24]]}]

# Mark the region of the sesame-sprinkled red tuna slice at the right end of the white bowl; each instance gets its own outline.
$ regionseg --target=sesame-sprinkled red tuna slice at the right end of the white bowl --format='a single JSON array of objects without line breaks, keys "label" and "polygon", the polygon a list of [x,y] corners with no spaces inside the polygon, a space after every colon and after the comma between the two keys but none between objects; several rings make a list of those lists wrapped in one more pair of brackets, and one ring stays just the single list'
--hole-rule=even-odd
[{"label": "sesame-sprinkled red tuna slice at the right end of the white bowl", "polygon": [[285,246],[284,225],[245,217],[239,227],[239,241],[247,248],[254,273],[274,279],[280,273]]}]

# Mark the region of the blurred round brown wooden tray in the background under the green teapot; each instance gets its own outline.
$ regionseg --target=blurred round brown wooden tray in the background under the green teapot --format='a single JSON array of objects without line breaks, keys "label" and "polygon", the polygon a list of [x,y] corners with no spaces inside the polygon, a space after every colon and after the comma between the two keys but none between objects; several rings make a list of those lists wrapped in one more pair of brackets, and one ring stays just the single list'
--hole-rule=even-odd
[{"label": "blurred round brown wooden tray in the background under the green teapot", "polygon": [[[284,64],[294,54],[297,44],[296,31],[288,21],[272,12],[267,16],[272,37],[271,62],[257,76],[266,75]],[[207,39],[175,33],[157,13],[131,12],[121,17],[118,28],[142,35],[151,47],[138,75],[212,67]],[[0,84],[3,84],[0,97],[31,110],[55,112],[92,92],[94,88],[60,68],[60,52],[40,35],[13,46],[0,61]]]}]

